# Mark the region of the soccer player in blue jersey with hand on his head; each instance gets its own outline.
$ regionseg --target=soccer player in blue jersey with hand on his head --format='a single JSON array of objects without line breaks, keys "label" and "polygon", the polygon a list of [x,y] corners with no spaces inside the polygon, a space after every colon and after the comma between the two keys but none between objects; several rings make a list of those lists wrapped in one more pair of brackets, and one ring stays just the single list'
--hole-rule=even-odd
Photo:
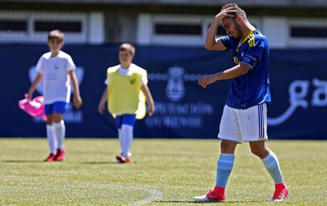
[{"label": "soccer player in blue jersey with hand on his head", "polygon": [[[222,22],[227,36],[216,38]],[[233,79],[221,117],[218,138],[221,154],[217,164],[216,187],[207,195],[194,197],[197,202],[224,202],[225,187],[234,165],[237,144],[249,142],[251,152],[258,156],[275,183],[270,201],[280,202],[289,196],[277,157],[265,146],[267,136],[267,105],[271,103],[269,85],[269,43],[246,18],[244,10],[229,3],[221,8],[208,31],[205,47],[209,50],[232,49],[233,67],[204,76],[199,84]]]}]

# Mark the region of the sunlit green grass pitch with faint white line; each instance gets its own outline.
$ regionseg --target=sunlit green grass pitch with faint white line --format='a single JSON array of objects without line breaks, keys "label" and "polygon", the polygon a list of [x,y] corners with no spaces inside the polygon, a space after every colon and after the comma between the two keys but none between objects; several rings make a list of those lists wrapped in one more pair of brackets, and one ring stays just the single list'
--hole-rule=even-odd
[{"label": "sunlit green grass pitch with faint white line", "polygon": [[[64,162],[44,163],[42,139],[0,138],[1,206],[196,206],[213,189],[216,140],[135,139],[132,163],[116,164],[117,139],[66,139]],[[248,143],[236,149],[226,203],[201,206],[326,206],[327,141],[269,141],[291,196],[269,203],[273,182]]]}]

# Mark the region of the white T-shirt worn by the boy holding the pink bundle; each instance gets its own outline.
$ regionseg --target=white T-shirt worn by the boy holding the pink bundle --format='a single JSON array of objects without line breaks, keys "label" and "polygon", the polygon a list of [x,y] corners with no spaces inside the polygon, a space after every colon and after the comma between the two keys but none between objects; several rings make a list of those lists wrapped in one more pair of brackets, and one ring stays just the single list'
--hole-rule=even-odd
[{"label": "white T-shirt worn by the boy holding the pink bundle", "polygon": [[36,65],[36,71],[43,74],[43,96],[45,104],[56,101],[69,103],[70,78],[68,72],[76,66],[71,57],[63,51],[51,57],[51,52],[41,56]]}]

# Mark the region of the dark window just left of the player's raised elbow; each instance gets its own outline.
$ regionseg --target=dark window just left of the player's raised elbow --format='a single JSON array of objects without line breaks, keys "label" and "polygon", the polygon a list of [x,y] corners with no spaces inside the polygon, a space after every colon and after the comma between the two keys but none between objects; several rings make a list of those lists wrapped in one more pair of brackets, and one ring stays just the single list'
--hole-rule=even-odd
[{"label": "dark window just left of the player's raised elbow", "polygon": [[164,35],[202,35],[202,26],[191,24],[156,24],[155,33]]}]

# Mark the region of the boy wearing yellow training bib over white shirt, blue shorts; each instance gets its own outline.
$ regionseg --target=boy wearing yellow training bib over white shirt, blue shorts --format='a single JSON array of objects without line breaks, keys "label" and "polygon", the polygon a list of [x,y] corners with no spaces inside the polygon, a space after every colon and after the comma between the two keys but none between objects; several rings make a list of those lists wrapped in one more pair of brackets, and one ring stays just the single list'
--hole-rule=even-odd
[{"label": "boy wearing yellow training bib over white shirt, blue shorts", "polygon": [[150,117],[155,112],[155,103],[147,85],[147,71],[132,63],[135,47],[123,43],[118,52],[120,64],[107,70],[107,87],[99,102],[98,111],[103,114],[108,101],[108,111],[115,118],[121,147],[121,153],[116,159],[118,163],[129,163],[135,121],[146,115],[145,100],[149,104]]}]

